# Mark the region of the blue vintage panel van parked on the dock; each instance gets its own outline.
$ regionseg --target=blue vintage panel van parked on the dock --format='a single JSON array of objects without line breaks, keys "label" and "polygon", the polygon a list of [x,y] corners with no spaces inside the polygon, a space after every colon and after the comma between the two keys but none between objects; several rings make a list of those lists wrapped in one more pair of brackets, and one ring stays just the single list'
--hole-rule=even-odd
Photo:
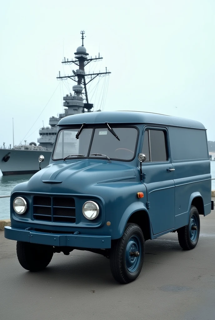
[{"label": "blue vintage panel van parked on the dock", "polygon": [[[43,156],[39,161],[42,162]],[[178,233],[195,248],[199,215],[211,212],[203,124],[132,111],[67,116],[50,164],[11,193],[11,227],[21,266],[46,268],[53,253],[88,250],[110,260],[129,283],[143,266],[145,241]]]}]

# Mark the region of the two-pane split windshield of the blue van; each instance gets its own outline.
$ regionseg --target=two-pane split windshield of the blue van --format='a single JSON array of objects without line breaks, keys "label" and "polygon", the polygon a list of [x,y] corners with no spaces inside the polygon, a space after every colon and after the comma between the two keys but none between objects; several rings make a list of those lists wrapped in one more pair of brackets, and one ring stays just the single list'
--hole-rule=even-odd
[{"label": "two-pane split windshield of the blue van", "polygon": [[[134,157],[138,134],[136,128],[112,127],[119,140],[107,127],[84,128],[78,139],[76,139],[79,129],[63,129],[58,133],[52,159],[63,159],[68,155],[105,158],[105,156],[91,155],[96,153],[119,160],[131,160]],[[84,157],[82,156],[81,158]],[[76,157],[71,158],[74,159]]]}]

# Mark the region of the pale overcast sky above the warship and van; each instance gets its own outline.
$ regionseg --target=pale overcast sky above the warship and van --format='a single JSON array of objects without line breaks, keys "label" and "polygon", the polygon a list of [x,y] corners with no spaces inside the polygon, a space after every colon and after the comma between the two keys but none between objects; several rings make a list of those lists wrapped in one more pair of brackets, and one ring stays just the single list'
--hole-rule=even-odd
[{"label": "pale overcast sky above the warship and van", "polygon": [[[214,0],[2,2],[0,145],[12,144],[12,117],[19,144],[29,130],[25,139],[37,142],[43,121],[47,126],[50,116],[62,112],[62,97],[72,84],[56,76],[59,70],[71,73],[61,61],[74,57],[82,29],[87,52],[100,51],[104,58],[91,70],[111,71],[104,110],[195,119],[208,129],[208,140],[215,140],[214,13]],[[100,108],[104,79],[92,96],[94,85],[91,102]]]}]

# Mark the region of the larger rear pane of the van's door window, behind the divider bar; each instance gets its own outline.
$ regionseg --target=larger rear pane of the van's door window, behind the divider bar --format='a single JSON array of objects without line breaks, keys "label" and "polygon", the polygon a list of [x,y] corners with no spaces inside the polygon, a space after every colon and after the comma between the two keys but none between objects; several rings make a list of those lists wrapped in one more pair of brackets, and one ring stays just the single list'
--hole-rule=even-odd
[{"label": "larger rear pane of the van's door window, behind the divider bar", "polygon": [[151,161],[168,160],[165,133],[162,130],[149,130]]}]

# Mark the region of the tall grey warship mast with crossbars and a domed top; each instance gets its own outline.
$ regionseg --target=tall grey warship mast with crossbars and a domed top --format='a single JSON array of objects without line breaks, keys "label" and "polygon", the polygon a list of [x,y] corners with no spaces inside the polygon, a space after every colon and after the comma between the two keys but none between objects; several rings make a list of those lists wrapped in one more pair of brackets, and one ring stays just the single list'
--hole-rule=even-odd
[{"label": "tall grey warship mast with crossbars and a domed top", "polygon": [[[95,56],[95,58],[88,58],[87,56],[89,56],[89,53],[86,52],[86,49],[84,47],[84,36],[85,32],[84,30],[81,31],[81,39],[82,39],[82,45],[80,47],[77,48],[75,54],[75,59],[76,60],[66,60],[66,58],[64,58],[64,60],[62,61],[62,63],[66,64],[66,65],[70,65],[70,64],[75,64],[76,66],[78,66],[78,69],[72,70],[73,71],[73,75],[64,75],[64,76],[60,76],[60,71],[59,71],[59,76],[57,77],[58,80],[66,80],[66,79],[72,79],[73,81],[75,81],[77,84],[74,85],[72,87],[72,90],[75,92],[74,96],[72,96],[70,94],[70,96],[66,96],[64,98],[65,102],[64,102],[64,106],[66,107],[72,107],[72,106],[76,106],[76,107],[81,107],[83,106],[82,112],[85,112],[84,109],[87,109],[87,112],[91,112],[92,108],[93,108],[93,104],[89,103],[88,100],[88,94],[87,94],[87,84],[89,84],[92,80],[94,80],[96,77],[98,76],[106,76],[109,75],[111,72],[106,71],[105,72],[98,72],[98,73],[89,73],[89,74],[85,74],[85,70],[84,67],[89,64],[92,61],[100,61],[103,58],[100,57],[100,53],[99,56]],[[82,91],[84,89],[84,95],[85,95],[85,99],[86,99],[86,103],[83,103],[83,98],[82,98]],[[76,101],[75,101],[76,100]],[[81,105],[82,104],[82,105]],[[75,110],[75,109],[74,109]]]}]

